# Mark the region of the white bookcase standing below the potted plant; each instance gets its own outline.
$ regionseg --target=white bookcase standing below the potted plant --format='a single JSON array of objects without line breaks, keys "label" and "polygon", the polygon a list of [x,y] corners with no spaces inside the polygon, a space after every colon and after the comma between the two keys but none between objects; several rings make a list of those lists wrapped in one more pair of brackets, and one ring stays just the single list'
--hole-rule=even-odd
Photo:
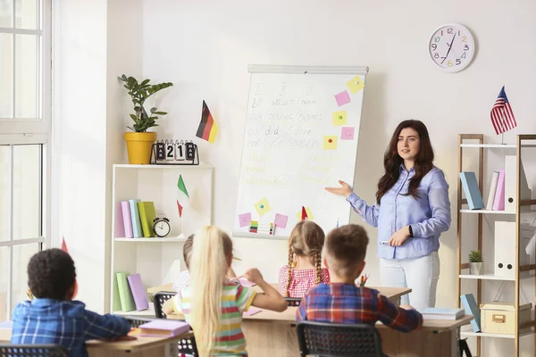
[{"label": "white bookcase standing below the potted plant", "polygon": [[[180,175],[190,196],[188,203],[180,203],[184,207],[183,222],[177,208]],[[164,213],[170,220],[172,229],[169,236],[124,237],[121,202],[130,199],[154,202],[156,214]],[[213,167],[205,164],[113,165],[112,207],[110,311],[118,315],[155,316],[152,303],[147,311],[114,311],[113,276],[121,271],[139,273],[146,289],[172,282],[164,281],[164,278],[173,262],[180,261],[180,266],[184,267],[182,243],[185,237],[212,224]],[[180,234],[183,236],[180,237]]]}]

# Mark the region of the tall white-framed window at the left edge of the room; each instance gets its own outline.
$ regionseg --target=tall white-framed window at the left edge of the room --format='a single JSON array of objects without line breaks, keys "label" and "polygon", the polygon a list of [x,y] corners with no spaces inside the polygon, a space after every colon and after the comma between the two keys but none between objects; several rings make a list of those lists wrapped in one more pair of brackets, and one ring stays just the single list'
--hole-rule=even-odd
[{"label": "tall white-framed window at the left edge of the room", "polygon": [[0,321],[49,242],[51,0],[0,0]]}]

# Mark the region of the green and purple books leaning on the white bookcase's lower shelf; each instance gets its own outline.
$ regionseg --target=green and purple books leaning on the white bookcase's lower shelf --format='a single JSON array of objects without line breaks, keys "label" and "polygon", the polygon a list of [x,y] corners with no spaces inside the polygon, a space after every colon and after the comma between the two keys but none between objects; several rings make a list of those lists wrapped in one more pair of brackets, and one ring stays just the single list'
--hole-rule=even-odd
[{"label": "green and purple books leaning on the white bookcase's lower shelf", "polygon": [[149,308],[146,289],[139,274],[115,273],[113,279],[113,311],[143,311]]}]

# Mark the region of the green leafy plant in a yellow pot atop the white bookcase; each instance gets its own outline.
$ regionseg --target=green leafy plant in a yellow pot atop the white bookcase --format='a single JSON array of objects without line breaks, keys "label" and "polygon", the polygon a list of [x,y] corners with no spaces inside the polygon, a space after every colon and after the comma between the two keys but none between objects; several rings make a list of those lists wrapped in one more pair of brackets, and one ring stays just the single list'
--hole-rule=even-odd
[{"label": "green leafy plant in a yellow pot atop the white bookcase", "polygon": [[147,129],[157,127],[158,115],[166,115],[167,112],[158,112],[155,107],[147,112],[144,104],[151,95],[164,88],[172,87],[173,84],[170,82],[150,84],[150,79],[138,82],[138,79],[127,77],[124,74],[119,79],[125,82],[123,87],[129,91],[132,104],[134,104],[134,114],[130,114],[130,118],[134,120],[134,125],[127,127],[132,132],[126,132],[124,136],[127,142],[129,163],[147,164],[151,162],[151,148],[156,141],[156,133],[148,132]]}]

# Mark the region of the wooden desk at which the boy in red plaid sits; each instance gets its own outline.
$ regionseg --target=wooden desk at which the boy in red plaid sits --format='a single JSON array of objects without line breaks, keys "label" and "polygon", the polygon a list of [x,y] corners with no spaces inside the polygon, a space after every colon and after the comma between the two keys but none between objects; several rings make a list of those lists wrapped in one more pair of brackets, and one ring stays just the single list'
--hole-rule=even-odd
[{"label": "wooden desk at which the boy in red plaid sits", "polygon": [[[247,352],[255,357],[297,357],[296,307],[287,311],[261,311],[244,316],[242,330],[246,336]],[[390,357],[452,357],[457,356],[459,328],[473,320],[424,320],[423,328],[409,334],[398,332],[381,323],[383,353]],[[267,338],[267,336],[270,336]]]}]

